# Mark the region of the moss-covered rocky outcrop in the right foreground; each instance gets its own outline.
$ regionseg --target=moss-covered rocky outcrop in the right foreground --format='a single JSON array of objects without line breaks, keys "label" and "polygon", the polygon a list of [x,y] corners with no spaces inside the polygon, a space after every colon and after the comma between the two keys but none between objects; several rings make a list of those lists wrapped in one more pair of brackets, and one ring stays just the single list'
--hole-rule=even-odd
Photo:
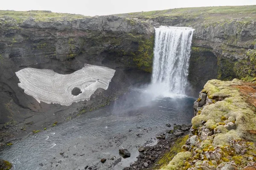
[{"label": "moss-covered rocky outcrop in the right foreground", "polygon": [[[206,98],[202,97],[205,96]],[[192,134],[162,170],[241,169],[256,161],[256,84],[209,80],[195,102]],[[204,101],[204,105],[201,105]]]}]

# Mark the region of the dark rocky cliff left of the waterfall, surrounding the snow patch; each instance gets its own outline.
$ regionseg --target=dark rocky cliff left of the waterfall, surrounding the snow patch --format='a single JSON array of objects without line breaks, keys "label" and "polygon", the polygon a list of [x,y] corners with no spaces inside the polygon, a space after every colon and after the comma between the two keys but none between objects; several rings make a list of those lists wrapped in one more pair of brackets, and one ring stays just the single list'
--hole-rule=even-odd
[{"label": "dark rocky cliff left of the waterfall, surrounding the snow patch", "polygon": [[[150,74],[137,68],[151,70],[152,21],[116,16],[51,18],[48,16],[51,12],[41,12],[38,17],[37,14],[38,11],[31,11],[27,18],[14,14],[0,17],[2,139],[14,136],[9,129],[32,131],[52,125],[56,120],[71,119],[108,104],[131,84],[150,81]],[[44,14],[47,17],[44,18]],[[74,103],[72,107],[39,104],[17,86],[19,80],[15,72],[22,68],[70,74],[81,69],[84,63],[116,70],[108,90],[97,90],[90,101]]]}]

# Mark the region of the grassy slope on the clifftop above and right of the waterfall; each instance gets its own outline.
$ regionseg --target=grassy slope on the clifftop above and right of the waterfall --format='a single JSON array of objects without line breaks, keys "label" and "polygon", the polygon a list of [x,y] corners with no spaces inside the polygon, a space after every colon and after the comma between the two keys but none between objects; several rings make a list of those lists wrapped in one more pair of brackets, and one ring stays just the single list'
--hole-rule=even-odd
[{"label": "grassy slope on the clifftop above and right of the waterfall", "polygon": [[207,23],[232,22],[233,20],[250,21],[256,18],[254,6],[214,6],[194,8],[174,8],[160,11],[141,11],[128,14],[117,14],[125,17],[144,17],[145,19],[165,17],[167,19],[184,19],[193,24],[196,20]]}]

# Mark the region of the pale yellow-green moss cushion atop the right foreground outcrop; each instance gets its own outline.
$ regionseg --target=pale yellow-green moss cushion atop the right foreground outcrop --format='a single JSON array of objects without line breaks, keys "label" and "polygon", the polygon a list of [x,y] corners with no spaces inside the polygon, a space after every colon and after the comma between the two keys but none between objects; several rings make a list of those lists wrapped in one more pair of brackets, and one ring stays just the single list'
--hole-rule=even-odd
[{"label": "pale yellow-green moss cushion atop the right foreground outcrop", "polygon": [[[202,121],[207,121],[206,125],[208,128],[214,127],[214,125],[217,125],[214,124],[214,122],[223,122],[223,115],[225,115],[230,118],[230,121],[236,121],[237,129],[236,135],[234,134],[233,136],[234,139],[242,137],[249,140],[256,140],[256,136],[249,133],[249,130],[256,130],[254,123],[256,122],[256,117],[253,116],[255,109],[247,104],[246,99],[243,98],[238,89],[232,87],[233,85],[241,85],[242,83],[243,82],[238,79],[227,82],[209,80],[204,86],[204,91],[209,98],[221,101],[206,105],[200,115],[192,118],[192,125],[200,127]],[[228,134],[226,137],[229,137]],[[216,143],[220,144],[226,142],[224,138],[224,136],[217,137],[215,139]],[[220,141],[222,139],[224,140],[223,142]]]}]

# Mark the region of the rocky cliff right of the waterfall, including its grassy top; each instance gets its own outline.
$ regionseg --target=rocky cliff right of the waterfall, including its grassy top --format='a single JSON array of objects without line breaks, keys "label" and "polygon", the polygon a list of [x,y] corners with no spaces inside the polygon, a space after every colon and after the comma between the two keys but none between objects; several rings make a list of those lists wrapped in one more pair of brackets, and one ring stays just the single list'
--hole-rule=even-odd
[{"label": "rocky cliff right of the waterfall, including its grassy top", "polygon": [[[199,60],[200,63],[205,60],[209,69],[200,64],[197,67],[191,65],[189,79],[194,87],[197,81],[202,88],[207,79],[255,80],[255,8],[256,6],[176,8],[122,14],[122,16],[153,20],[160,25],[195,28],[191,63],[194,65],[195,60]],[[215,69],[212,69],[212,66]],[[197,74],[195,74],[196,70]],[[201,74],[205,75],[206,79],[199,80],[200,70],[208,72],[206,75]]]}]

